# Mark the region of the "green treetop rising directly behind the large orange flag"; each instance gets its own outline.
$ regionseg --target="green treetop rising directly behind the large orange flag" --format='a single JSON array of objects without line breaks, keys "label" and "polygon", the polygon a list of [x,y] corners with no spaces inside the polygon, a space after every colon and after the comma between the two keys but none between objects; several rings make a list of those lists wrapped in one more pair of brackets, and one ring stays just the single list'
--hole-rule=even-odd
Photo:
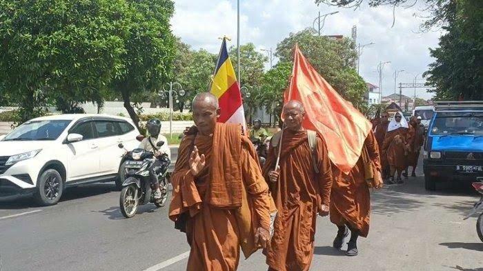
[{"label": "green treetop rising directly behind the large orange flag", "polygon": [[328,83],[354,106],[362,106],[367,89],[364,79],[353,69],[357,54],[351,39],[330,39],[315,35],[315,30],[306,29],[284,39],[277,45],[280,61],[292,62],[292,50],[298,43],[304,56]]}]

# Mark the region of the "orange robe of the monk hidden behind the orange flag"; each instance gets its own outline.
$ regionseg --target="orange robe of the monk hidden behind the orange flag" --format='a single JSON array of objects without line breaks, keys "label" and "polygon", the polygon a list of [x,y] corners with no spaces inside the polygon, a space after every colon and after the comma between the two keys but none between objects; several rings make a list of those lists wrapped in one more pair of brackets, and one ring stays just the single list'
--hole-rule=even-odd
[{"label": "orange robe of the monk hidden behind the orange flag", "polygon": [[[364,142],[373,170],[381,172],[379,147],[373,132]],[[362,157],[349,174],[344,174],[333,165],[334,182],[331,192],[331,222],[335,225],[350,225],[367,237],[371,215],[371,193],[366,182]]]}]

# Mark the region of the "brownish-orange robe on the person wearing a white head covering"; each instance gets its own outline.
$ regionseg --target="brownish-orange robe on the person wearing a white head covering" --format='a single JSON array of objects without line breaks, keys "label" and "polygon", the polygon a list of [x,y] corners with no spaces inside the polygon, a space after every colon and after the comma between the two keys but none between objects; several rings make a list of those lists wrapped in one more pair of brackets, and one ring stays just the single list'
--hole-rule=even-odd
[{"label": "brownish-orange robe on the person wearing a white head covering", "polygon": [[387,132],[382,143],[382,151],[386,153],[388,164],[397,170],[405,170],[408,165],[408,141],[411,140],[408,132],[408,128],[404,127]]}]

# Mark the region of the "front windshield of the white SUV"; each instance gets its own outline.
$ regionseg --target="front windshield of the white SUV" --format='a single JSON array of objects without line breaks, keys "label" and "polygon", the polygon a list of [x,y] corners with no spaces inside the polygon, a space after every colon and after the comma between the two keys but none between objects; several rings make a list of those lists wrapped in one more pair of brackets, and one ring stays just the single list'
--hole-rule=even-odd
[{"label": "front windshield of the white SUV", "polygon": [[10,132],[3,141],[55,140],[66,129],[70,121],[27,121]]}]

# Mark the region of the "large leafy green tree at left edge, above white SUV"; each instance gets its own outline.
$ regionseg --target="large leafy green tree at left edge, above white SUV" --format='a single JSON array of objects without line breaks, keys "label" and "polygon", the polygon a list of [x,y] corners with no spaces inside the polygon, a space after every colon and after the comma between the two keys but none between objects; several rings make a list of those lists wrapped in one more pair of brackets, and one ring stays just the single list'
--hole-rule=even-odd
[{"label": "large leafy green tree at left edge, above white SUV", "polygon": [[123,0],[0,1],[0,92],[21,121],[48,103],[101,101],[121,74]]}]

